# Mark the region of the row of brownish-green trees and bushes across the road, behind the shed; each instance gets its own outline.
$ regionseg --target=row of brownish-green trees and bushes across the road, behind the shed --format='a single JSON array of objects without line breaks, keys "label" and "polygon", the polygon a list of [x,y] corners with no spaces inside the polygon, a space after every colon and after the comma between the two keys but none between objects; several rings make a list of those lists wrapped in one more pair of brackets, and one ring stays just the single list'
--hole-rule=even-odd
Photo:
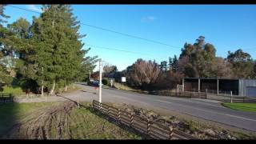
[{"label": "row of brownish-green trees and bushes across the road, behind the shed", "polygon": [[182,77],[200,78],[255,78],[256,62],[241,49],[228,51],[226,58],[216,56],[213,44],[200,36],[194,44],[185,43],[177,58],[158,64],[139,58],[126,70],[118,72],[126,76],[126,84],[142,90],[174,89]]}]

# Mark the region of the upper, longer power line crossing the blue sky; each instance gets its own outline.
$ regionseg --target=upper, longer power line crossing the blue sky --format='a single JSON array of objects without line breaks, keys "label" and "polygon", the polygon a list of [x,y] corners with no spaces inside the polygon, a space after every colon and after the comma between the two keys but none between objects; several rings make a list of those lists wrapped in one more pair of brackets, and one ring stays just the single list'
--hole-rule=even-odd
[{"label": "upper, longer power line crossing the blue sky", "polygon": [[[7,5],[7,6],[11,6],[11,5]],[[28,9],[21,8],[21,7],[18,7],[18,6],[11,6],[11,7],[14,7],[14,8],[19,9],[19,10],[26,10],[26,11],[31,11],[31,12],[34,12],[34,13],[37,13],[37,14],[41,14],[38,11],[28,10]],[[115,30],[106,29],[106,28],[103,28],[101,26],[93,26],[93,25],[89,25],[89,24],[86,24],[86,23],[83,23],[83,22],[80,22],[80,24],[84,25],[84,26],[90,26],[94,29],[104,30],[104,31],[108,31],[108,32],[111,32],[111,33],[114,33],[114,34],[120,34],[120,35],[130,37],[130,38],[137,38],[137,39],[141,39],[141,40],[144,40],[144,41],[147,41],[147,42],[154,42],[154,43],[157,43],[157,44],[160,44],[160,45],[170,46],[170,47],[174,47],[174,48],[178,48],[178,49],[181,48],[180,46],[171,46],[171,45],[163,43],[163,42],[158,42],[158,41],[154,41],[154,40],[151,40],[151,39],[148,39],[148,38],[142,38],[142,37],[134,36],[134,35],[131,35],[131,34],[126,34],[126,33],[118,32],[118,31],[115,31]]]}]

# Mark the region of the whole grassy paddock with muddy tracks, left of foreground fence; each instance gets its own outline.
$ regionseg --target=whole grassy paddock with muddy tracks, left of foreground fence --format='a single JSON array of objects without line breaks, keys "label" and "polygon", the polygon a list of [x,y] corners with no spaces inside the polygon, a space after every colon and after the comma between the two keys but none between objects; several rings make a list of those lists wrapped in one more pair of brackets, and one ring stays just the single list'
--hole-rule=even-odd
[{"label": "whole grassy paddock with muddy tracks, left of foreground fence", "polygon": [[134,132],[94,114],[88,107],[78,109],[73,105],[65,102],[0,105],[0,138],[141,139]]}]

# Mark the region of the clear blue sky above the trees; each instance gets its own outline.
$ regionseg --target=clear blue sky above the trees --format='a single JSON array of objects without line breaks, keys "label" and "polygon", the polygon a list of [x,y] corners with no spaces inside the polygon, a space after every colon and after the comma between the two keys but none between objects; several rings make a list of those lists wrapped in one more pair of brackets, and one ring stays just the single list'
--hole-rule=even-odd
[{"label": "clear blue sky above the trees", "polygon": [[[40,5],[16,5],[38,10]],[[214,44],[217,56],[226,57],[227,51],[242,48],[256,58],[256,5],[72,5],[74,15],[80,22],[106,29],[132,34],[142,38],[163,42],[164,46],[141,39],[81,26],[86,34],[82,41],[91,47],[88,55],[98,55],[105,62],[126,69],[137,58],[161,62],[179,55],[185,42],[194,43],[198,36]],[[9,22],[18,18],[32,21],[38,14],[6,6]],[[129,50],[130,54],[104,50],[94,46]],[[172,47],[175,46],[175,47]],[[98,70],[98,68],[96,68]]]}]

